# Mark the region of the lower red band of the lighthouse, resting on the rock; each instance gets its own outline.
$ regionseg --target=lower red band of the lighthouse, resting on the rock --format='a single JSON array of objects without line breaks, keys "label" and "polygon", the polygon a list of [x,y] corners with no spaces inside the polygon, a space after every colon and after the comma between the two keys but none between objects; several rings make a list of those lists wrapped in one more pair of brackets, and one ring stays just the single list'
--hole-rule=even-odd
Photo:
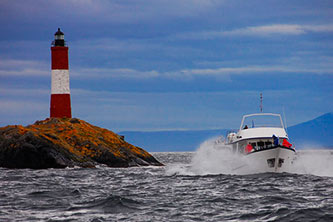
[{"label": "lower red band of the lighthouse, resting on the rock", "polygon": [[50,117],[72,118],[70,94],[51,94]]}]

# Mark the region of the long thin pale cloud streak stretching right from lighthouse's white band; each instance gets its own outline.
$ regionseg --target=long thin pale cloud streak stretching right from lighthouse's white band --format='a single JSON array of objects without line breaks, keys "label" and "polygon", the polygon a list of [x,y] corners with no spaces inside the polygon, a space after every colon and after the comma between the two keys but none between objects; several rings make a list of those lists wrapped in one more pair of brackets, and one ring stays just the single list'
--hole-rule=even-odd
[{"label": "long thin pale cloud streak stretching right from lighthouse's white band", "polygon": [[170,72],[161,72],[157,70],[139,71],[136,69],[120,68],[120,69],[107,69],[107,68],[91,68],[79,69],[72,72],[73,78],[80,79],[178,79],[188,80],[194,77],[206,76],[216,77],[219,80],[228,81],[232,75],[258,75],[269,73],[292,73],[295,75],[302,74],[333,74],[333,67],[327,64],[319,66],[302,66],[298,64],[286,65],[270,65],[270,66],[244,66],[244,67],[219,67],[219,68],[206,68],[206,69],[182,69]]}]

